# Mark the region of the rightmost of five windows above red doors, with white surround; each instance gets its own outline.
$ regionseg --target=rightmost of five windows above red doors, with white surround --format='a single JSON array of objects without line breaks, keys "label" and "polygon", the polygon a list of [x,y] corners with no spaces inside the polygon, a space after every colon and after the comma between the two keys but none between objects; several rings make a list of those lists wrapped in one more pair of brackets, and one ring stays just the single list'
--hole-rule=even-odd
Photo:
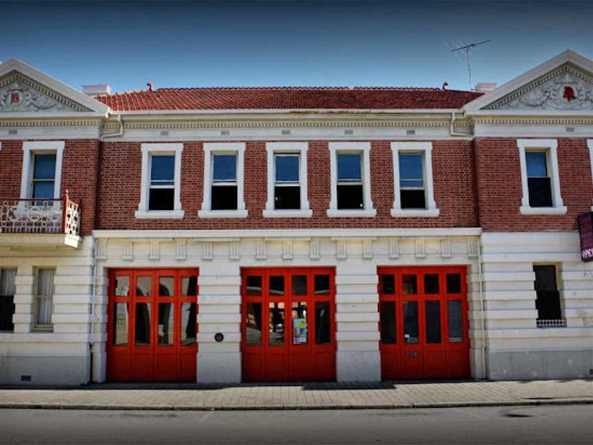
[{"label": "rightmost of five windows above red doors, with white surround", "polygon": [[391,216],[439,216],[432,182],[432,142],[392,142],[393,208]]}]

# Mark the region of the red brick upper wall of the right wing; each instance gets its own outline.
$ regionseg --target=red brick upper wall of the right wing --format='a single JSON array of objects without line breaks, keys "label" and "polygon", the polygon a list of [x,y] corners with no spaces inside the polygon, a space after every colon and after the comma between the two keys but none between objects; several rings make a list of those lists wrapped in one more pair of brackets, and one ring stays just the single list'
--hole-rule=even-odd
[{"label": "red brick upper wall of the right wing", "polygon": [[560,194],[566,215],[520,214],[521,168],[516,139],[478,138],[476,177],[480,223],[485,231],[576,230],[577,216],[590,212],[593,183],[585,139],[557,139]]}]

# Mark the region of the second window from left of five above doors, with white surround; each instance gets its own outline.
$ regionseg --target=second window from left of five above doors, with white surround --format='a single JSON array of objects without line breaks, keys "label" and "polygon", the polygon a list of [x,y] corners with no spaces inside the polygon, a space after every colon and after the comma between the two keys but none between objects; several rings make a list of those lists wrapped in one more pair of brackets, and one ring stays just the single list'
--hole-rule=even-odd
[{"label": "second window from left of five above doors, with white surround", "polygon": [[246,218],[244,142],[212,142],[204,148],[204,198],[200,218]]}]

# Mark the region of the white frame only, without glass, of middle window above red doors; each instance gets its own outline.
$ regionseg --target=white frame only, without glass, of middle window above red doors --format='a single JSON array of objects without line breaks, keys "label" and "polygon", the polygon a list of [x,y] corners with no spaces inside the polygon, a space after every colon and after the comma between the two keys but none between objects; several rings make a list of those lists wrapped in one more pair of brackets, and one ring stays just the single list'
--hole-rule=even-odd
[{"label": "white frame only, without glass, of middle window above red doors", "polygon": [[[268,151],[268,201],[262,212],[264,218],[310,218],[313,211],[309,207],[307,191],[307,142],[267,142]],[[276,155],[299,155],[299,187],[301,188],[300,209],[275,209]]]}]

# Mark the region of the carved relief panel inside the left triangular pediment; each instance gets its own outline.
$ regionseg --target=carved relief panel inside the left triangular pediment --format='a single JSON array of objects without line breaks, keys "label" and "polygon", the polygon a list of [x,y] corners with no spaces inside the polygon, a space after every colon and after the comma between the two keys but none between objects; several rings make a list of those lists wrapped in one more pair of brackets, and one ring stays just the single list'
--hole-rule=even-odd
[{"label": "carved relief panel inside the left triangular pediment", "polygon": [[14,80],[0,88],[0,111],[23,113],[27,111],[80,111],[30,87],[25,82]]}]

